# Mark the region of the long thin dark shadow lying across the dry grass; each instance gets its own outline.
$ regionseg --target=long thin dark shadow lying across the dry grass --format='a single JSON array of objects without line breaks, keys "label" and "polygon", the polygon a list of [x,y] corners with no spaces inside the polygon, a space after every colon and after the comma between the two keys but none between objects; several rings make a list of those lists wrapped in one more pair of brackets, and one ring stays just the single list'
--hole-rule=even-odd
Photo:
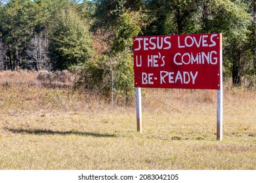
[{"label": "long thin dark shadow lying across the dry grass", "polygon": [[116,137],[115,134],[108,133],[91,133],[81,131],[52,131],[46,129],[7,129],[12,133],[27,133],[32,135],[82,135],[82,136],[93,136],[93,137]]}]

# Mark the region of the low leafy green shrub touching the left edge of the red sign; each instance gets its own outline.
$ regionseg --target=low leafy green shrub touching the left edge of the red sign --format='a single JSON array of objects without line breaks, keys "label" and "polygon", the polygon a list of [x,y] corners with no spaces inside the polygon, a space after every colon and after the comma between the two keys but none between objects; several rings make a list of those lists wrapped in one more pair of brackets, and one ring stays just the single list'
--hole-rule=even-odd
[{"label": "low leafy green shrub touching the left edge of the red sign", "polygon": [[109,101],[127,105],[133,98],[133,81],[131,52],[121,52],[87,63],[79,73],[76,88],[90,90]]}]

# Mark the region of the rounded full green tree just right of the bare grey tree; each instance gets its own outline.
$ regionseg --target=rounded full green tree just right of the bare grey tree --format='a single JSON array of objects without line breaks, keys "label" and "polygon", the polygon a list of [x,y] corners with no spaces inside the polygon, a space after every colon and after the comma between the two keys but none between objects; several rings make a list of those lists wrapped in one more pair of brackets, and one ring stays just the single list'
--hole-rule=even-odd
[{"label": "rounded full green tree just right of the bare grey tree", "polygon": [[89,27],[74,10],[58,12],[50,41],[50,52],[55,69],[83,65],[93,54]]}]

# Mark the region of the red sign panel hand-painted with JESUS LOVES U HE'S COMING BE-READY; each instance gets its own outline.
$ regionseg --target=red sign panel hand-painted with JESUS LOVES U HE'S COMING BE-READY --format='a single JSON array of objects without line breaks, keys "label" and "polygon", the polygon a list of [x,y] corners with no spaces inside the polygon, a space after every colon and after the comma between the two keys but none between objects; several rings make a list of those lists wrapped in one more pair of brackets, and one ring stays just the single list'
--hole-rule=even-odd
[{"label": "red sign panel hand-painted with JESUS LOVES U HE'S COMING BE-READY", "polygon": [[220,90],[221,34],[133,37],[135,87]]}]

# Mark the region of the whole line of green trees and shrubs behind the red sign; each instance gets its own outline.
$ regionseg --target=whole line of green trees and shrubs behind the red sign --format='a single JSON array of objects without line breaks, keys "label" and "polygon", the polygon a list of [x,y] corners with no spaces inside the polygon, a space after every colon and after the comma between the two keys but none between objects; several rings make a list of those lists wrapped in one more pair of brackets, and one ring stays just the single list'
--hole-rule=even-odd
[{"label": "whole line of green trees and shrubs behind the red sign", "polygon": [[223,33],[224,77],[255,87],[255,0],[0,2],[1,70],[79,67],[84,88],[129,96],[134,36]]}]

